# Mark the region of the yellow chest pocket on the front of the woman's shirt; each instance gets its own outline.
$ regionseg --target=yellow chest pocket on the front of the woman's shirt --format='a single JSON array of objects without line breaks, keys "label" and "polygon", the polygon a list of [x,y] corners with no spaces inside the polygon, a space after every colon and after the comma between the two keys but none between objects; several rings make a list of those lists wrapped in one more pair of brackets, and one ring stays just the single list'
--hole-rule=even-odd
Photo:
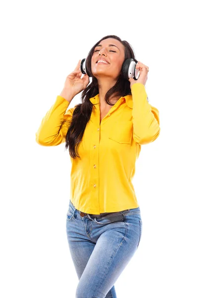
[{"label": "yellow chest pocket on the front of the woman's shirt", "polygon": [[120,144],[130,144],[133,135],[132,121],[115,122],[108,138]]}]

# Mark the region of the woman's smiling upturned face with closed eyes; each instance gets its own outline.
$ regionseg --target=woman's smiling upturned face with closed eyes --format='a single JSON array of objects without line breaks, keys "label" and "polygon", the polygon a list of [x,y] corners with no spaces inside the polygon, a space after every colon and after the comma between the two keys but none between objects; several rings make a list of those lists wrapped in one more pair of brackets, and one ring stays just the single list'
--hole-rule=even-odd
[{"label": "woman's smiling upturned face with closed eyes", "polygon": [[[105,60],[107,63],[97,63],[99,59]],[[120,75],[124,60],[123,44],[114,38],[104,39],[94,49],[91,61],[92,74],[97,78],[109,76],[116,79]]]}]

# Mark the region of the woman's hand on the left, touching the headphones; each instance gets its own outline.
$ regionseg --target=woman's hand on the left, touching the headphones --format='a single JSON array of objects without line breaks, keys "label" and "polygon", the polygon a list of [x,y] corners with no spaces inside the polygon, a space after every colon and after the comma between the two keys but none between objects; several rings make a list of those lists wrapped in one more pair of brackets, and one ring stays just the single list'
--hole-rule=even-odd
[{"label": "woman's hand on the left, touching the headphones", "polygon": [[69,74],[64,83],[64,89],[68,90],[70,93],[75,96],[84,90],[90,82],[90,78],[87,74],[82,76],[82,72],[80,70],[81,60],[79,60],[75,70]]}]

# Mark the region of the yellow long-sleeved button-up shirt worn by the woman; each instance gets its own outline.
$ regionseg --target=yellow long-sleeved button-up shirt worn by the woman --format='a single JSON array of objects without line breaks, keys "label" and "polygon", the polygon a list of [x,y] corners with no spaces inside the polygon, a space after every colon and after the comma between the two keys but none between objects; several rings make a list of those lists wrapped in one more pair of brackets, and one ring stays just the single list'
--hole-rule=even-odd
[{"label": "yellow long-sleeved button-up shirt worn by the woman", "polygon": [[[111,107],[100,123],[99,94],[82,141],[79,157],[72,158],[70,200],[76,209],[90,214],[137,208],[132,178],[141,145],[153,142],[160,132],[159,111],[147,100],[145,86],[134,83]],[[65,136],[75,107],[57,96],[36,133],[36,142],[57,146]],[[65,112],[66,111],[66,112]]]}]

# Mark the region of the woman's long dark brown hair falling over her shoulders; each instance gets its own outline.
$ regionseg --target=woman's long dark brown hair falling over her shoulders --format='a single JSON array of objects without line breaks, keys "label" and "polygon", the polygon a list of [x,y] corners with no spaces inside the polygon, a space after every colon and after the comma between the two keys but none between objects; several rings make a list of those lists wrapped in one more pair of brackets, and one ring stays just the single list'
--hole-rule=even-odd
[{"label": "woman's long dark brown hair falling over her shoulders", "polygon": [[[69,147],[69,154],[72,158],[76,158],[77,156],[80,157],[78,155],[78,146],[82,140],[85,128],[88,121],[90,120],[93,109],[93,103],[90,101],[90,98],[96,96],[99,93],[98,79],[92,74],[91,69],[92,55],[94,53],[94,49],[97,45],[99,45],[100,41],[106,38],[114,38],[119,40],[125,48],[125,60],[128,58],[133,58],[136,63],[138,62],[135,59],[135,54],[131,45],[127,41],[121,40],[116,35],[104,36],[92,47],[86,59],[86,71],[87,74],[92,77],[92,82],[88,84],[81,94],[82,103],[79,103],[75,106],[72,120],[65,139],[65,149]],[[121,72],[115,85],[111,87],[105,94],[104,101],[109,105],[114,105],[109,102],[109,98],[113,94],[116,94],[116,96],[119,95],[120,97],[131,95],[130,81],[126,80]]]}]

